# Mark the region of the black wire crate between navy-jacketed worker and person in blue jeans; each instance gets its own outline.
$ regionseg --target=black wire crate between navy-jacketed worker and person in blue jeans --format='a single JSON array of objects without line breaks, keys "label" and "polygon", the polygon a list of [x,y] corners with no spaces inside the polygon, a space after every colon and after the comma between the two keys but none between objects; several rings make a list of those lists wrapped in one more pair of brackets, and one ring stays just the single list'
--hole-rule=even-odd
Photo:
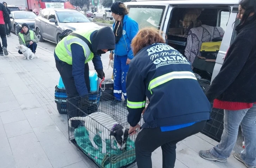
[{"label": "black wire crate between navy-jacketed worker and person in blue jeans", "polygon": [[[208,90],[210,85],[207,86],[205,92]],[[201,131],[202,134],[212,138],[215,141],[220,142],[221,135],[224,129],[224,110],[213,108],[213,103],[211,103],[212,112],[211,112],[211,121],[208,121],[205,125],[205,128]]]}]

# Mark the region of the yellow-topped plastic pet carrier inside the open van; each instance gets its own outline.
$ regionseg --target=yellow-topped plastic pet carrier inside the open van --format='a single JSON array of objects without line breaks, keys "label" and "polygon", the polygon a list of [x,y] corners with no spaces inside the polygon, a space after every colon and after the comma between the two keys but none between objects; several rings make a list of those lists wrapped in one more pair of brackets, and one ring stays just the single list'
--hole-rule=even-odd
[{"label": "yellow-topped plastic pet carrier inside the open van", "polygon": [[216,59],[220,50],[221,41],[218,42],[203,42],[201,45],[201,56],[206,59]]}]

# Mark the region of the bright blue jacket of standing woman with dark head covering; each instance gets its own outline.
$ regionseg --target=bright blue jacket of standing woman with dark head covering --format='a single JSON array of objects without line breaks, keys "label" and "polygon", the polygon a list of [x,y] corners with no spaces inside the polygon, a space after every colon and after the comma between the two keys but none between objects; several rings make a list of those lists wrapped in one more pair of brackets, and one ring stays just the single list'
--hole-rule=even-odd
[{"label": "bright blue jacket of standing woman with dark head covering", "polygon": [[[113,24],[113,30],[115,28]],[[130,47],[134,36],[138,33],[138,23],[127,15],[123,18],[123,35],[118,43],[116,43],[114,53],[118,56],[127,56],[129,59],[133,59],[133,51]],[[114,32],[115,33],[115,32]]]}]

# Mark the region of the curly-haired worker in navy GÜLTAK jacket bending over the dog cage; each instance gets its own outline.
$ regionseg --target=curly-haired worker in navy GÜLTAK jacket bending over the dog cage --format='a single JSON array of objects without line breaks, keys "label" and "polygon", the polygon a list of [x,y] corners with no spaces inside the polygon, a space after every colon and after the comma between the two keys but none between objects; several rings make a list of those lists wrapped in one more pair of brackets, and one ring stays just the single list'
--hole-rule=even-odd
[{"label": "curly-haired worker in navy G\u00dcLTAK jacket bending over the dog cage", "polygon": [[[129,133],[145,123],[136,137],[138,168],[152,168],[151,153],[161,146],[163,167],[173,168],[176,143],[199,133],[210,118],[211,105],[189,61],[165,44],[155,28],[144,28],[132,41],[134,58],[127,73]],[[150,101],[145,109],[146,97]]]}]

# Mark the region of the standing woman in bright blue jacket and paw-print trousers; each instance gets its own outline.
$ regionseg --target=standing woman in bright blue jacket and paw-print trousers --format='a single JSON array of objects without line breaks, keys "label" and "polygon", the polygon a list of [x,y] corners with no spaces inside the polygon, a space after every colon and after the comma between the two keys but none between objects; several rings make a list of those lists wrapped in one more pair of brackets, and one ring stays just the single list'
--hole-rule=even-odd
[{"label": "standing woman in bright blue jacket and paw-print trousers", "polygon": [[114,53],[110,53],[109,58],[114,59],[114,96],[115,100],[111,102],[111,105],[117,105],[121,102],[122,94],[124,95],[123,106],[127,106],[126,95],[126,74],[129,69],[129,63],[133,59],[133,51],[130,48],[132,39],[139,31],[139,26],[136,21],[128,17],[129,13],[126,6],[120,2],[114,2],[111,5],[111,12],[115,19],[113,24],[113,31],[116,38],[116,46]]}]

